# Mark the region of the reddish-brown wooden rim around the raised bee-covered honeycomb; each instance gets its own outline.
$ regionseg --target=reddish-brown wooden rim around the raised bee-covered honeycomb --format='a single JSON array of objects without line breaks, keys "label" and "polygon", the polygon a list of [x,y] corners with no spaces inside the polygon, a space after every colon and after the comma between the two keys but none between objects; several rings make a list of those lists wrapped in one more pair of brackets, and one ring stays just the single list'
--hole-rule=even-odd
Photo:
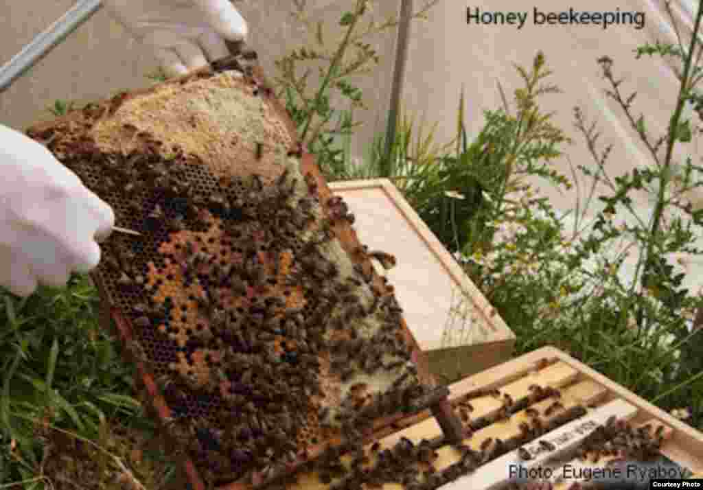
[{"label": "reddish-brown wooden rim around the raised bee-covered honeycomb", "polygon": [[[207,79],[207,77],[212,74],[213,70],[220,71],[226,69],[228,67],[227,63],[233,63],[232,60],[236,61],[236,58],[237,57],[235,56],[232,57],[231,60],[220,60],[219,62],[213,63],[214,66],[212,68],[206,67],[205,69],[196,70],[195,72],[191,72],[183,77],[171,79],[166,82],[166,85],[183,86],[193,80],[197,82],[199,79],[202,78]],[[276,100],[276,98],[273,96],[273,92],[269,88],[269,84],[267,84],[261,68],[258,65],[250,66],[250,71],[248,72],[247,77],[250,77],[250,82],[254,86],[254,91],[259,92],[259,96],[264,101],[266,101],[266,103],[269,104],[269,106],[273,109],[273,112],[276,115],[278,122],[283,123],[283,125],[285,126],[285,133],[288,135],[289,139],[291,141],[297,141],[295,124],[293,124],[290,120],[290,117],[288,117],[288,113],[285,111],[285,108],[283,108],[283,105],[281,105],[280,102]],[[53,130],[56,129],[56,127],[60,127],[61,125],[63,125],[63,127],[80,128],[83,127],[84,124],[83,118],[96,118],[96,120],[98,121],[103,120],[104,117],[110,117],[110,115],[112,115],[115,110],[117,110],[117,108],[122,105],[122,103],[125,103],[125,101],[128,101],[130,98],[141,96],[143,94],[150,94],[150,92],[153,90],[153,88],[150,88],[141,91],[133,91],[129,94],[120,94],[108,101],[107,105],[89,105],[83,110],[71,112],[65,117],[59,118],[58,120],[37,124],[37,126],[30,128],[27,133],[30,134],[30,136],[37,138],[39,141],[43,141],[47,138],[46,134],[53,134]],[[193,122],[193,124],[195,123]],[[53,136],[49,136],[49,138],[51,139],[53,138]],[[86,141],[86,139],[82,138],[79,139],[78,142],[87,146],[88,153],[86,153],[86,155],[88,155],[89,157],[90,155],[99,154],[99,150],[96,151],[95,148],[91,147],[91,142],[89,140]],[[247,164],[250,165],[250,167],[246,167],[245,170],[248,169],[251,172],[252,168],[257,167],[257,165],[261,165],[259,162],[257,162],[257,160],[262,159],[262,152],[259,144],[257,144],[256,153],[257,155],[255,159],[251,159],[251,162]],[[57,155],[60,157],[60,153],[57,153]],[[305,148],[304,146],[302,146],[302,143],[297,143],[293,148],[290,148],[289,156],[290,155],[295,155],[299,158],[299,167],[302,174],[310,174],[312,176],[314,183],[316,183],[316,192],[320,198],[321,205],[323,209],[325,209],[325,211],[329,212],[330,209],[328,209],[328,198],[331,197],[331,193],[329,188],[326,186],[323,177],[318,171],[318,168],[314,163],[314,158],[312,157],[312,155],[309,155],[309,153],[305,151]],[[268,156],[266,155],[266,153],[264,153],[262,159],[263,162],[266,162],[267,157]],[[253,167],[251,167],[251,165],[253,165]],[[262,173],[264,172],[266,172],[266,170],[262,171]],[[271,176],[269,175],[268,177],[270,178]],[[356,254],[354,254],[354,250],[356,250],[360,246],[359,240],[356,238],[356,233],[354,232],[354,229],[348,223],[338,222],[333,226],[333,231],[335,233],[335,238],[340,241],[342,249],[344,250],[344,252],[347,252],[348,257],[352,259],[352,262],[359,264],[361,267],[366,269],[366,271],[368,271],[367,273],[370,274],[371,282],[373,283],[375,288],[378,288],[378,290],[385,290],[387,292],[390,292],[390,290],[386,288],[386,285],[384,281],[382,281],[382,278],[380,278],[380,276],[373,272],[373,267],[371,266],[368,259],[356,257]],[[262,257],[262,255],[259,254],[259,261],[262,262],[262,264],[266,264],[266,257]],[[109,288],[106,286],[105,282],[101,280],[101,276],[99,274],[93,274],[93,279],[95,280],[96,286],[101,294],[101,297],[106,300],[108,305],[110,305],[112,303],[112,297]],[[165,424],[165,426],[168,425],[169,420],[172,420],[172,411],[169,406],[167,406],[165,398],[162,396],[162,388],[157,386],[157,381],[155,380],[153,373],[151,373],[148,369],[147,363],[139,359],[139,356],[134,356],[135,349],[132,346],[134,346],[134,344],[137,344],[137,337],[136,335],[134,335],[135,325],[133,324],[133,321],[131,321],[129,318],[127,318],[127,316],[125,316],[124,311],[122,311],[122,309],[117,307],[111,307],[109,314],[105,315],[104,318],[105,327],[111,325],[112,321],[114,321],[117,325],[122,344],[125,347],[128,347],[127,349],[125,349],[125,353],[129,355],[131,351],[131,354],[133,355],[131,360],[136,363],[138,383],[140,385],[143,385],[143,387],[146,389],[148,399],[150,399],[153,404],[153,406],[151,406],[150,408],[153,409],[154,414],[159,420],[162,421],[162,423]],[[441,423],[447,436],[450,438],[454,437],[455,439],[457,437],[460,437],[460,423],[458,423],[458,419],[453,416],[453,412],[449,408],[449,404],[446,402],[446,396],[449,391],[446,388],[436,387],[434,385],[432,376],[427,373],[426,363],[423,360],[423,356],[420,353],[420,349],[418,349],[418,346],[415,340],[413,339],[413,335],[408,330],[407,325],[402,318],[400,318],[400,325],[401,334],[404,337],[404,342],[408,345],[411,351],[410,358],[413,363],[415,363],[415,366],[417,366],[418,379],[420,380],[420,382],[423,383],[423,385],[430,388],[434,387],[434,389],[431,389],[430,392],[427,392],[425,396],[415,400],[412,405],[418,408],[431,406],[432,411],[437,415],[437,420],[439,420],[439,423]],[[139,351],[139,346],[136,347],[136,351]],[[385,427],[389,427],[390,425],[396,423],[396,421],[402,417],[402,413],[396,413],[395,415],[385,416],[378,418],[378,420],[374,420],[373,426],[370,430],[367,430],[363,433],[363,437],[371,437],[372,432],[370,431],[383,430]],[[174,446],[177,446],[176,441],[174,440],[173,442]],[[250,486],[259,486],[265,484],[271,479],[276,479],[276,477],[283,476],[288,472],[295,470],[295,468],[297,468],[299,465],[306,463],[308,460],[314,460],[316,456],[323,453],[323,451],[326,451],[329,446],[335,446],[336,444],[340,444],[341,442],[342,439],[340,437],[333,437],[331,439],[328,439],[327,441],[321,441],[321,444],[318,444],[317,446],[313,447],[307,447],[305,451],[299,453],[299,455],[297,455],[297,459],[292,463],[286,463],[283,466],[279,466],[278,470],[267,472],[266,475],[255,473],[254,475],[252,475],[251,482],[238,482],[233,484],[233,488],[249,488]],[[182,456],[186,474],[188,475],[188,479],[191,482],[193,489],[204,489],[205,483],[203,482],[200,475],[198,475],[198,470],[196,470],[193,460],[191,460],[187,453],[183,454]]]}]

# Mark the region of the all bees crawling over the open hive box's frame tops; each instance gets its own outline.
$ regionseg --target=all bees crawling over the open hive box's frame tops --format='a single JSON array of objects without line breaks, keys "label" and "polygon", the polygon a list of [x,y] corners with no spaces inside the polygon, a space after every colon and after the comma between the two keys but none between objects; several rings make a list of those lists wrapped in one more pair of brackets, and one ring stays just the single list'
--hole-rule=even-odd
[{"label": "all bees crawling over the open hive box's frame tops", "polygon": [[[466,444],[455,445],[455,449],[461,454],[460,460],[441,471],[434,468],[438,457],[437,449],[445,444],[441,437],[434,440],[423,440],[419,444],[413,444],[413,441],[401,438],[393,448],[384,450],[380,450],[378,443],[373,444],[370,451],[368,449],[364,451],[361,444],[350,445],[344,449],[345,452],[353,455],[348,467],[340,463],[340,449],[336,449],[328,451],[322,458],[310,463],[311,469],[318,473],[321,482],[330,485],[330,490],[373,488],[386,483],[399,483],[406,490],[437,489],[453,480],[469,475],[480,466],[516,449],[518,456],[523,460],[530,460],[533,456],[524,450],[522,445],[532,441],[538,441],[543,451],[555,451],[556,447],[550,441],[538,439],[587,413],[583,406],[565,408],[560,401],[559,390],[538,385],[530,387],[529,396],[520,402],[513,402],[510,396],[501,394],[498,389],[480,389],[458,401],[456,407],[472,411],[470,399],[479,396],[494,396],[496,399],[502,399],[503,407],[508,407],[508,413],[524,409],[529,417],[529,423],[520,424],[520,434],[517,437],[505,440],[484,439],[477,449],[472,449]],[[554,401],[542,411],[529,407],[536,401],[547,398],[553,398]],[[528,404],[527,408],[524,407],[525,403]],[[501,408],[498,412],[503,411],[504,409]],[[495,418],[494,415],[489,418],[477,419],[475,429],[486,427],[496,420],[499,419]],[[467,423],[467,420],[464,420],[464,423],[467,437],[470,437],[472,425]],[[618,456],[618,459],[614,460],[616,462],[618,460],[651,461],[660,455],[659,447],[662,444],[662,435],[663,426],[656,429],[647,425],[634,428],[626,421],[612,417],[583,441],[577,451],[577,456],[579,458],[588,456],[595,458],[595,460],[598,460],[600,456]],[[290,477],[286,481],[290,482]],[[285,484],[279,482],[276,486],[269,487],[269,490],[284,488]],[[517,488],[549,490],[553,486],[547,481],[535,481]],[[578,482],[574,482],[569,487],[570,490],[580,490],[581,488],[583,487]]]}]

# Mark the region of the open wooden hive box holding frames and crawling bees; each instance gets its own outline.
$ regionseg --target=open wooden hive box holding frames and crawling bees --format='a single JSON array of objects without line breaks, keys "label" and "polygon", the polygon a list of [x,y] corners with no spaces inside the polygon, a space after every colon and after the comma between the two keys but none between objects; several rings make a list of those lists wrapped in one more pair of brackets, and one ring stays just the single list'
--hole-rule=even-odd
[{"label": "open wooden hive box holding frames and crawling bees", "polygon": [[674,477],[703,472],[703,434],[553,347],[465,378],[450,391],[463,420],[462,444],[444,444],[436,421],[415,415],[365,453],[342,458],[343,472],[301,472],[289,488],[364,482],[384,490],[494,489],[510,484],[510,468],[523,468],[568,489],[585,482],[586,469],[612,469],[608,464],[620,457],[649,464],[627,468],[676,471]]}]

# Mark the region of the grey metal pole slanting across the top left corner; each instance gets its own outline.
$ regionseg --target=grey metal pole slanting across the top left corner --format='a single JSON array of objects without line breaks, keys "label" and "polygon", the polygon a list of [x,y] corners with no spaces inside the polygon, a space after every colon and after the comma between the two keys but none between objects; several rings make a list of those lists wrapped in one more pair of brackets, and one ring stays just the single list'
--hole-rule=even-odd
[{"label": "grey metal pole slanting across the top left corner", "polygon": [[0,67],[0,94],[44,58],[65,37],[75,31],[102,7],[101,0],[80,0],[44,32],[32,39],[22,51]]}]

